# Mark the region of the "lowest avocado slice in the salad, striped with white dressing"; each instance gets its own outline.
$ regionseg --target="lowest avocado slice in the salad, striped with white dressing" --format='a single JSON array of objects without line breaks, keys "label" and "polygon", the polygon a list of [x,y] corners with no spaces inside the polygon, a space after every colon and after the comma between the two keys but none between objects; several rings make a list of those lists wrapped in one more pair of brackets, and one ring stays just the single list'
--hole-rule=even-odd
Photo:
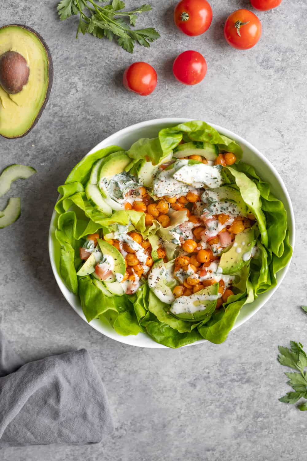
[{"label": "lowest avocado slice in the salad, striped with white dressing", "polygon": [[181,320],[209,320],[215,310],[218,293],[219,284],[214,284],[197,291],[194,295],[180,296],[173,302],[169,311]]}]

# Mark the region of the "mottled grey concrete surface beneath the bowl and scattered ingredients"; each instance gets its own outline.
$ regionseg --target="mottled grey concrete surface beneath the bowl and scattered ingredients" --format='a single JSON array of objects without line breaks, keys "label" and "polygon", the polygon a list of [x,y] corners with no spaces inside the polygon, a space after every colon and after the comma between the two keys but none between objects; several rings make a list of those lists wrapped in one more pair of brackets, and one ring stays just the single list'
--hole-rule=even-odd
[{"label": "mottled grey concrete surface beneath the bowl and scattered ingredients", "polygon": [[[299,308],[307,285],[306,2],[284,0],[275,11],[260,12],[263,35],[248,51],[226,44],[222,24],[249,1],[211,0],[213,23],[196,38],[174,27],[175,3],[153,2],[154,11],[139,24],[154,24],[162,38],[130,55],[91,36],[75,41],[76,22],[58,20],[55,0],[1,2],[0,25],[27,24],[44,36],[54,81],[35,129],[23,139],[0,139],[1,169],[20,162],[39,171],[13,185],[22,216],[0,231],[0,328],[24,360],[86,347],[116,424],[114,436],[99,445],[5,449],[2,461],[306,459],[307,414],[278,402],[289,388],[276,360],[278,344],[307,343],[307,317]],[[186,49],[202,52],[208,63],[195,87],[180,85],[171,72],[174,57]],[[122,87],[123,69],[136,60],[158,73],[147,98]],[[284,283],[220,346],[139,349],[104,337],[64,300],[49,263],[52,207],[72,166],[116,130],[168,116],[201,118],[249,140],[276,166],[295,209],[296,248]]]}]

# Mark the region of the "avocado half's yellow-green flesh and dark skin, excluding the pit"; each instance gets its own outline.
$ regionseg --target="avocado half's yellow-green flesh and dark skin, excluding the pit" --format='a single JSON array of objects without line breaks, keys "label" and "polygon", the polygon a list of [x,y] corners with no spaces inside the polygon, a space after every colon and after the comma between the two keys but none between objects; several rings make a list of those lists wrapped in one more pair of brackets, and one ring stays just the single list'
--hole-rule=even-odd
[{"label": "avocado half's yellow-green flesh and dark skin, excluding the pit", "polygon": [[41,117],[52,87],[53,65],[43,37],[22,24],[0,28],[0,58],[7,52],[19,53],[29,67],[28,80],[17,93],[9,94],[0,86],[0,136],[12,139],[27,135]]}]

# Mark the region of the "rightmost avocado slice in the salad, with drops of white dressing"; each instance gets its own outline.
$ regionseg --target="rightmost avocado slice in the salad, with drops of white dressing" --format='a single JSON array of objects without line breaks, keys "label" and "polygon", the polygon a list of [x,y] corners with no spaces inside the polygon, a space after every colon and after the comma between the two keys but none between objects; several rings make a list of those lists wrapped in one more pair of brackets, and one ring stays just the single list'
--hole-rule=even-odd
[{"label": "rightmost avocado slice in the salad, with drops of white dressing", "polygon": [[232,247],[220,258],[218,272],[234,274],[247,264],[256,243],[255,234],[256,227],[253,226],[236,235]]}]

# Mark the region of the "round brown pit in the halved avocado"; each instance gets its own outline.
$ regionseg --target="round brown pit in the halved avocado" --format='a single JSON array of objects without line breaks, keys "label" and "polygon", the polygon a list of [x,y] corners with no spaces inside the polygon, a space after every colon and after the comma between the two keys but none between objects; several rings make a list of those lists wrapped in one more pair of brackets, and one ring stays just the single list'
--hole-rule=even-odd
[{"label": "round brown pit in the halved avocado", "polygon": [[6,51],[0,56],[0,85],[10,95],[19,93],[27,84],[30,69],[17,51]]}]

